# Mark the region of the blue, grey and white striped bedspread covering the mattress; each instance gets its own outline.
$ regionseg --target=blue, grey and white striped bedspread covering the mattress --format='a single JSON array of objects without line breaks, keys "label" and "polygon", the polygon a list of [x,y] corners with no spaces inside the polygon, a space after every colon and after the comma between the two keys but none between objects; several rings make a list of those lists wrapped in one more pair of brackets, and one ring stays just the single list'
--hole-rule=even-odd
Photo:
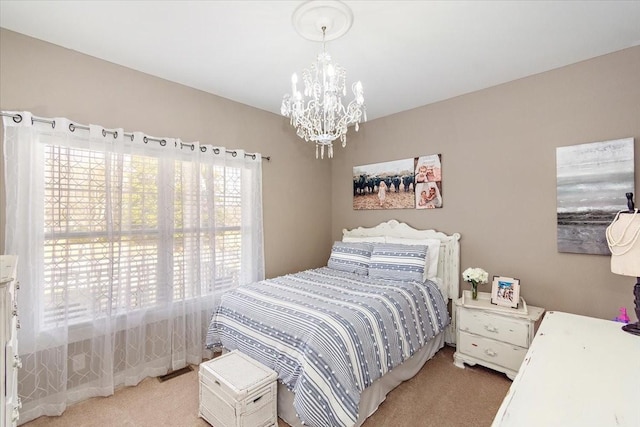
[{"label": "blue, grey and white striped bedspread covering the mattress", "polygon": [[305,425],[351,426],[362,390],[449,320],[434,283],[323,267],[225,293],[207,346],[239,349],[276,371]]}]

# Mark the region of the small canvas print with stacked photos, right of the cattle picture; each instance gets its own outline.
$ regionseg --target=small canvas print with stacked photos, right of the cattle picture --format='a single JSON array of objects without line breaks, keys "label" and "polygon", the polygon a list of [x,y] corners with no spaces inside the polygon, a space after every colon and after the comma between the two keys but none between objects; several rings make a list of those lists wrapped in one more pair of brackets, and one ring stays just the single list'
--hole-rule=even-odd
[{"label": "small canvas print with stacked photos, right of the cattle picture", "polygon": [[442,207],[442,164],[440,154],[415,159],[416,209]]}]

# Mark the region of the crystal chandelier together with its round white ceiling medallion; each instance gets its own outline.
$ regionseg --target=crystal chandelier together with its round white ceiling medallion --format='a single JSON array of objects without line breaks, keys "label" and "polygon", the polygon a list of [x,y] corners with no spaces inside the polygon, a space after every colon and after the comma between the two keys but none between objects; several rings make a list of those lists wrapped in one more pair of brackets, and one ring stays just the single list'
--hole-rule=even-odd
[{"label": "crystal chandelier together with its round white ceiling medallion", "polygon": [[[282,99],[280,111],[283,116],[291,119],[291,125],[296,128],[296,134],[300,138],[315,143],[316,158],[319,155],[324,159],[325,149],[327,157],[333,157],[333,141],[340,139],[342,147],[347,145],[349,126],[354,125],[357,132],[359,123],[366,121],[367,115],[362,83],[359,81],[351,86],[354,99],[345,106],[343,98],[347,95],[347,73],[340,65],[331,62],[331,55],[326,51],[329,25],[338,24],[338,31],[333,33],[332,39],[342,36],[353,21],[351,10],[341,2],[318,4],[319,6],[314,2],[303,4],[294,13],[293,22],[303,37],[316,40],[317,34],[309,36],[301,28],[306,21],[313,21],[314,26],[317,26],[316,32],[322,32],[322,52],[310,68],[303,70],[302,92],[297,87],[298,75],[294,73],[291,76],[291,94],[286,94]],[[334,16],[326,17],[331,13]]]}]

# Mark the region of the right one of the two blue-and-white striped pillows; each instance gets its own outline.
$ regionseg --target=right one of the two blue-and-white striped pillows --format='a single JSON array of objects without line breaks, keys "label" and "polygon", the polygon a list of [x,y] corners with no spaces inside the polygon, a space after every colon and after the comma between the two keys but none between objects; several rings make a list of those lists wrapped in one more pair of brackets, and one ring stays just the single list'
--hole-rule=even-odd
[{"label": "right one of the two blue-and-white striped pillows", "polygon": [[424,282],[426,245],[377,244],[369,262],[369,276],[375,279]]}]

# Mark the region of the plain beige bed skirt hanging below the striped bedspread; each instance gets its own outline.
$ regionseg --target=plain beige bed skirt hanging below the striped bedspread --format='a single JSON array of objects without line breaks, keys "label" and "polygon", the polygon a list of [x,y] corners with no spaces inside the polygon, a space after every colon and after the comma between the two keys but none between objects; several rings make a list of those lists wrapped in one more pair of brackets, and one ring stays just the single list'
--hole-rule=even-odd
[{"label": "plain beige bed skirt hanging below the striped bedspread", "polygon": [[[422,369],[427,360],[431,359],[444,346],[444,335],[444,332],[436,335],[409,360],[400,366],[396,366],[383,377],[378,378],[362,392],[360,395],[358,421],[354,424],[354,427],[360,427],[384,402],[391,390],[403,381],[413,378]],[[278,382],[278,417],[282,418],[291,427],[303,427],[293,407],[293,397],[293,392],[289,391],[284,384]]]}]

